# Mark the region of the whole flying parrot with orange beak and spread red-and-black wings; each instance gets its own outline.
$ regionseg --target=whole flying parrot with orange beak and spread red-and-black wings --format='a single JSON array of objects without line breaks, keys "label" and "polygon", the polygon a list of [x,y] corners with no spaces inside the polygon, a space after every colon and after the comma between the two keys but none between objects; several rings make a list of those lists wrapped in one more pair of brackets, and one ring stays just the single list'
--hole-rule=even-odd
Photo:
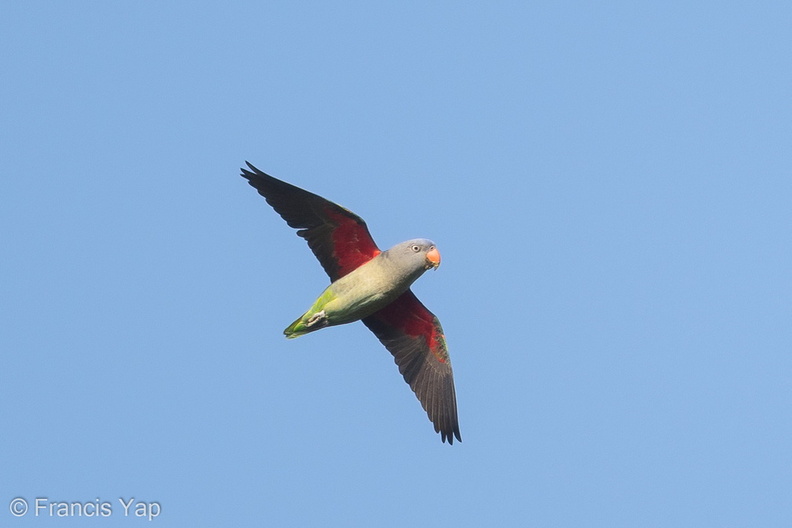
[{"label": "whole flying parrot with orange beak and spread red-and-black wings", "polygon": [[461,442],[443,328],[410,289],[424,272],[440,266],[435,243],[416,238],[382,251],[352,211],[245,163],[242,177],[298,230],[330,277],[330,285],[285,336],[362,321],[393,355],[441,440]]}]

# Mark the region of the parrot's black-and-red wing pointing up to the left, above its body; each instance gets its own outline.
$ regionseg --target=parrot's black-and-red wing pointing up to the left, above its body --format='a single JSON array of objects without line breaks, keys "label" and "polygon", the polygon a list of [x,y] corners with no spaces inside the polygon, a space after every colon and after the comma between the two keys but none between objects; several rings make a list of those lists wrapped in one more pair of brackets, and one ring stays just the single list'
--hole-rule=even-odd
[{"label": "parrot's black-and-red wing pointing up to the left, above its body", "polygon": [[355,213],[245,163],[250,170],[242,169],[242,177],[287,224],[299,229],[297,234],[308,242],[331,281],[380,253],[366,222]]}]

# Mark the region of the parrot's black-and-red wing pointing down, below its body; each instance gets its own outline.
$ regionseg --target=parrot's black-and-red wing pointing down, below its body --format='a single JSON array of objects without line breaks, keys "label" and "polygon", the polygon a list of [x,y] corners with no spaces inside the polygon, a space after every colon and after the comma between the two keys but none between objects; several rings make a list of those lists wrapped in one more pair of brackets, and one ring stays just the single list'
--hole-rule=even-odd
[{"label": "parrot's black-and-red wing pointing down, below its body", "polygon": [[411,290],[363,319],[382,341],[443,442],[460,442],[454,374],[443,328]]}]

